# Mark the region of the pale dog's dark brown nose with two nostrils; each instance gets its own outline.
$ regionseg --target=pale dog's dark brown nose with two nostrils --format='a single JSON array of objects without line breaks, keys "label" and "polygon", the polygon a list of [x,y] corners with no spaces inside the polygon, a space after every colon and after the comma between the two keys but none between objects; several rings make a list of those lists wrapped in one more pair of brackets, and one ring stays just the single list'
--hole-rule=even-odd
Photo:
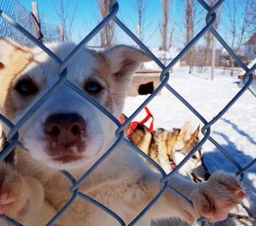
[{"label": "pale dog's dark brown nose with two nostrils", "polygon": [[84,119],[77,113],[52,114],[44,123],[45,134],[65,146],[79,141],[84,131]]}]

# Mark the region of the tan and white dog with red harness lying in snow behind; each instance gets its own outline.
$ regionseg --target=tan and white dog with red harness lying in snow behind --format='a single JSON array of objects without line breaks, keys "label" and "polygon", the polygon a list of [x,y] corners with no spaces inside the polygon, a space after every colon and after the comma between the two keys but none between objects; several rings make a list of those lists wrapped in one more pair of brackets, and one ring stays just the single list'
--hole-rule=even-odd
[{"label": "tan and white dog with red harness lying in snow behind", "polygon": [[[126,120],[125,114],[122,115]],[[145,154],[162,167],[166,173],[170,173],[190,151],[198,144],[200,126],[191,133],[189,122],[181,129],[165,130],[158,128],[152,132],[146,125],[138,124],[131,130],[131,125],[125,129],[130,141],[140,148]],[[185,177],[190,177],[195,182],[207,181],[210,173],[204,165],[201,148],[178,171]]]}]

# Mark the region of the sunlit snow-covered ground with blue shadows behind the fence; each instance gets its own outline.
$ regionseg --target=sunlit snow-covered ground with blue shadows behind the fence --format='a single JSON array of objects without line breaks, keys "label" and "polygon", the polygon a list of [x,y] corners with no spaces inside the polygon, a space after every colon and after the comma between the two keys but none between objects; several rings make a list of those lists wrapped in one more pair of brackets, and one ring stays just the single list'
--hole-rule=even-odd
[{"label": "sunlit snow-covered ground with blue shadows behind the fence", "polygon": [[[201,115],[211,120],[241,90],[237,76],[230,77],[229,72],[216,69],[214,81],[210,81],[210,69],[198,72],[195,68],[192,74],[186,67],[177,68],[172,72],[169,84],[177,90]],[[254,84],[255,85],[255,84]],[[256,87],[256,85],[254,86]],[[125,101],[126,115],[131,115],[148,96],[127,97]],[[172,130],[190,121],[192,130],[201,124],[188,108],[177,100],[171,92],[164,89],[160,96],[148,104],[154,114],[154,128],[163,127]],[[145,113],[140,113],[137,119],[143,119]],[[256,158],[256,98],[250,91],[243,96],[212,126],[211,136],[218,141],[242,166],[246,166]],[[218,151],[211,142],[203,145],[206,165],[210,171],[223,169],[236,172],[236,166]],[[245,177],[247,183],[256,188],[256,165]],[[249,205],[256,217],[256,194],[248,191],[253,202]]]}]

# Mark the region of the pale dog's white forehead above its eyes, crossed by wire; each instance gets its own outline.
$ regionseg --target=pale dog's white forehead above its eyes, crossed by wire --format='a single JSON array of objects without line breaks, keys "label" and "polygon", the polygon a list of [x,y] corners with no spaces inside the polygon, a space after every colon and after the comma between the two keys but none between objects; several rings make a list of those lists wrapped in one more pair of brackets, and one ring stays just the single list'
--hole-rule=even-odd
[{"label": "pale dog's white forehead above its eyes, crossed by wire", "polygon": [[[67,56],[76,47],[73,43],[51,43],[47,45],[61,61],[64,61]],[[37,80],[39,83],[43,80],[55,80],[60,74],[60,65],[55,62],[49,55],[44,53],[42,49],[32,49],[32,54],[35,55],[35,61],[26,68],[29,76]],[[99,61],[99,54],[94,50],[86,49],[85,47],[73,55],[71,61],[67,63],[68,79],[75,83],[83,83],[85,78],[95,73],[95,68],[100,67],[102,61]],[[25,72],[25,73],[26,73]],[[46,78],[46,79],[45,79]]]}]

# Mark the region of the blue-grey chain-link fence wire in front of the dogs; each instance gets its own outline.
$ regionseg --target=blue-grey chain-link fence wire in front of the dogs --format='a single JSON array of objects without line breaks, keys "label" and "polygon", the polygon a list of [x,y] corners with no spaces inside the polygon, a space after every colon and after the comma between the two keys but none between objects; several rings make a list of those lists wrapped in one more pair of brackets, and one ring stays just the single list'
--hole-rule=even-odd
[{"label": "blue-grey chain-link fence wire in front of the dogs", "polygon": [[[78,197],[83,199],[84,201],[90,202],[91,204],[97,206],[98,208],[101,208],[102,211],[107,212],[109,216],[116,219],[116,221],[119,223],[119,225],[126,226],[126,225],[135,225],[137,221],[140,220],[143,215],[148,212],[149,208],[154,205],[154,203],[161,197],[161,195],[166,191],[168,180],[177,173],[177,171],[189,160],[189,158],[192,157],[195,152],[201,148],[201,146],[204,144],[204,142],[210,141],[212,142],[220,152],[224,154],[224,156],[229,160],[231,163],[236,165],[237,171],[236,175],[241,177],[241,181],[244,178],[244,174],[253,167],[253,165],[256,165],[256,159],[253,159],[253,161],[248,164],[245,167],[242,167],[236,159],[234,159],[228,151],[226,151],[219,143],[211,136],[211,126],[214,125],[234,104],[236,104],[236,101],[243,95],[243,93],[249,88],[250,84],[253,81],[253,71],[256,68],[256,65],[253,65],[253,67],[248,68],[244,63],[242,63],[241,59],[233,52],[233,50],[230,48],[230,46],[224,42],[224,39],[218,34],[218,32],[213,28],[214,21],[216,20],[216,13],[215,11],[218,9],[218,7],[224,3],[224,0],[218,0],[217,3],[215,3],[212,7],[210,7],[205,1],[203,0],[197,0],[201,6],[207,10],[207,18],[206,18],[206,26],[203,27],[201,32],[197,33],[195,35],[195,38],[193,38],[182,51],[177,55],[176,58],[174,58],[168,65],[164,65],[144,44],[141,42],[135,34],[133,34],[126,26],[125,24],[119,20],[117,17],[117,13],[119,11],[119,3],[117,0],[110,1],[109,6],[109,14],[106,18],[104,18],[78,45],[73,51],[70,53],[70,55],[67,56],[67,58],[64,61],[61,61],[61,59],[55,55],[53,52],[51,52],[48,48],[44,46],[43,43],[40,43],[37,38],[33,36],[33,32],[30,31],[30,29],[26,29],[26,25],[23,25],[22,22],[19,22],[20,19],[18,18],[17,14],[15,14],[15,6],[14,1],[8,1],[8,4],[0,3],[0,16],[2,17],[1,23],[0,23],[0,32],[2,36],[9,36],[11,38],[16,38],[17,32],[20,32],[21,35],[19,37],[26,37],[28,38],[32,43],[38,45],[39,48],[43,49],[46,54],[49,55],[49,57],[55,61],[59,65],[59,80],[48,90],[48,93],[45,96],[42,96],[25,114],[24,116],[15,124],[13,125],[8,119],[6,119],[3,115],[0,114],[0,121],[2,121],[3,124],[7,125],[9,127],[9,134],[8,134],[8,140],[9,145],[3,149],[2,153],[0,154],[0,159],[4,159],[8,154],[12,152],[12,150],[15,148],[16,145],[19,144],[19,130],[20,128],[26,124],[26,120],[28,120],[33,113],[35,113],[38,108],[44,104],[44,101],[46,101],[49,96],[54,95],[55,90],[62,84],[66,85],[70,89],[76,91],[80,96],[83,96],[85,100],[89,101],[91,104],[93,104],[99,111],[102,111],[110,120],[113,121],[115,125],[118,126],[118,129],[116,130],[116,136],[117,140],[113,143],[113,145],[107,150],[105,154],[102,155],[100,159],[97,160],[96,164],[93,165],[89,171],[87,171],[83,177],[81,177],[78,181],[76,181],[67,171],[61,171],[65,177],[67,177],[70,180],[70,183],[72,184],[72,188],[70,189],[71,193],[73,194],[71,199],[68,200],[67,204],[62,207],[61,211],[58,212],[55,217],[53,217],[49,223],[47,223],[47,226],[54,225],[56,223],[57,219],[61,217],[61,215],[67,210],[67,208],[72,205],[73,201],[76,200]],[[20,9],[20,12],[22,9]],[[7,12],[7,14],[6,14]],[[24,11],[23,11],[24,13]],[[9,15],[8,15],[9,14]],[[21,18],[26,17],[28,15],[23,15]],[[141,49],[161,68],[162,72],[160,74],[160,85],[157,87],[154,92],[148,96],[146,101],[144,101],[140,107],[137,108],[137,110],[131,114],[131,117],[125,121],[123,125],[119,123],[119,120],[113,117],[111,113],[108,112],[107,109],[102,107],[98,102],[94,101],[90,96],[86,95],[83,90],[80,90],[76,85],[72,84],[67,80],[67,63],[70,61],[74,55],[78,52],[80,48],[82,48],[86,43],[88,43],[91,38],[94,38],[98,32],[102,30],[104,26],[106,26],[111,20],[113,20],[117,26],[119,26],[130,38],[134,40],[135,43],[137,43],[138,46],[140,46]],[[22,24],[22,26],[20,26]],[[210,31],[215,36],[215,38],[218,39],[218,42],[221,43],[224,47],[224,49],[227,50],[227,52],[230,54],[230,56],[236,61],[236,64],[241,67],[244,71],[244,85],[239,90],[239,92],[234,96],[227,105],[215,116],[212,120],[207,121],[201,113],[199,113],[195,107],[189,104],[188,101],[186,101],[183,96],[177,93],[176,90],[172,88],[170,84],[167,84],[167,82],[170,79],[169,71],[172,69],[172,67],[181,59],[183,55],[185,55],[188,50],[200,39],[203,37],[203,35]],[[16,40],[16,39],[15,39]],[[172,92],[172,95],[176,96],[179,101],[183,103],[185,107],[188,107],[189,110],[195,114],[195,117],[201,120],[202,124],[204,125],[201,129],[201,132],[203,133],[203,138],[201,141],[195,146],[195,148],[183,159],[183,161],[177,165],[177,167],[168,175],[166,175],[165,171],[163,171],[159,165],[157,165],[154,160],[150,159],[146,154],[144,154],[140,149],[135,147],[131,142],[129,142],[127,139],[125,139],[124,136],[124,130],[127,125],[131,123],[131,121],[139,114],[143,107],[148,105],[148,102],[151,101],[154,96],[156,96],[160,90],[167,89],[170,92]],[[141,154],[143,158],[148,159],[148,161],[154,165],[158,171],[160,171],[160,174],[162,175],[162,178],[160,182],[162,183],[162,188],[160,189],[160,192],[154,197],[154,199],[148,204],[148,206],[145,207],[143,212],[140,212],[135,219],[131,221],[129,224],[125,224],[124,220],[119,217],[115,212],[108,209],[107,206],[103,206],[101,203],[97,202],[90,196],[83,194],[79,192],[79,186],[86,181],[86,179],[91,175],[93,171],[96,170],[96,168],[102,164],[102,161],[108,158],[108,155],[111,154],[116,148],[116,146],[119,144],[119,142],[126,142],[131,148],[133,148],[134,151],[136,151],[138,154]],[[243,181],[243,183],[245,183]],[[168,185],[169,188],[170,185]],[[250,188],[253,190],[253,192],[256,194],[256,189],[253,188],[252,185],[245,183],[245,186],[247,188]],[[193,206],[192,202],[188,200],[183,194],[180,194],[177,190],[172,188],[172,191],[177,194],[181,199],[188,202],[191,206]],[[0,216],[3,220],[10,223],[11,225],[20,226],[20,223],[15,222],[13,219],[10,219],[6,216]],[[199,222],[201,222],[201,225],[205,225],[205,219],[201,218],[199,219]]]}]

